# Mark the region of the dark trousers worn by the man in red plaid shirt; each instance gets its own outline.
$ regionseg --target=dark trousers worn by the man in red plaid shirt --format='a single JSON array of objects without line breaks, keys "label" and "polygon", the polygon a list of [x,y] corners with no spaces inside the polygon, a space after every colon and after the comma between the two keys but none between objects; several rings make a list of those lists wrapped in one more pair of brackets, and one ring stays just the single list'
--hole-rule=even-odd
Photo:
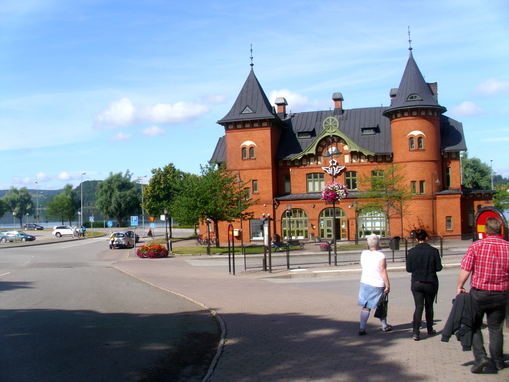
[{"label": "dark trousers worn by the man in red plaid shirt", "polygon": [[488,333],[490,336],[490,355],[494,361],[504,362],[504,333],[502,323],[505,319],[508,292],[470,289],[474,305],[474,335],[472,349],[476,360],[487,357],[481,325],[486,313]]}]

